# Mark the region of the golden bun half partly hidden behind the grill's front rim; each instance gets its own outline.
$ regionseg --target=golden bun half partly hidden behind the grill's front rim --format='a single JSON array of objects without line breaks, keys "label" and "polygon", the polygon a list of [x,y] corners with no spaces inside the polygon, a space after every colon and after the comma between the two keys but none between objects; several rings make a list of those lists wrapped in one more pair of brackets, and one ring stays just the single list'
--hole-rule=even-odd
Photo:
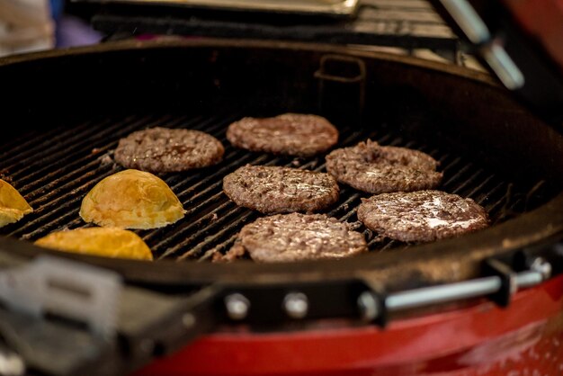
[{"label": "golden bun half partly hidden behind the grill's front rim", "polygon": [[50,233],[37,246],[82,255],[152,260],[150,249],[137,234],[122,228],[76,228]]}]

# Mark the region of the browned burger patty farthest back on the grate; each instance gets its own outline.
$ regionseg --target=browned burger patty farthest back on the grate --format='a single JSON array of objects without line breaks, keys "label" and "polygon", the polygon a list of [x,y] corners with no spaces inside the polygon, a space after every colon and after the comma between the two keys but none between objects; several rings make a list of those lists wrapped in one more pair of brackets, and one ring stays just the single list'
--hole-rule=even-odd
[{"label": "browned burger patty farthest back on the grate", "polygon": [[317,115],[285,113],[236,121],[228,126],[227,139],[237,148],[311,157],[335,146],[338,130]]}]

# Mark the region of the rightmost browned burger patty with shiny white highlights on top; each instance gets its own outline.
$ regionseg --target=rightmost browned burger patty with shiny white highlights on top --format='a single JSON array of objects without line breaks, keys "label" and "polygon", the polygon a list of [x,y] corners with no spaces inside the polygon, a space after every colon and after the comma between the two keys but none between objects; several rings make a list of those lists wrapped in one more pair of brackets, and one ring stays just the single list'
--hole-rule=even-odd
[{"label": "rightmost browned burger patty with shiny white highlights on top", "polygon": [[383,193],[362,199],[358,219],[384,237],[405,242],[455,237],[489,223],[487,210],[478,203],[441,191]]}]

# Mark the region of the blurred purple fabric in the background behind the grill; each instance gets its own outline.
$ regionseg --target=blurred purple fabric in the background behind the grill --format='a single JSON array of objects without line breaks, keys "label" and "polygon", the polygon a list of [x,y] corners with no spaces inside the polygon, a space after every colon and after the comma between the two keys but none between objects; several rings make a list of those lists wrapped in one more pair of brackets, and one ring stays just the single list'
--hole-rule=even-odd
[{"label": "blurred purple fabric in the background behind the grill", "polygon": [[72,15],[63,14],[57,22],[57,47],[75,47],[94,44],[102,40],[102,34]]}]

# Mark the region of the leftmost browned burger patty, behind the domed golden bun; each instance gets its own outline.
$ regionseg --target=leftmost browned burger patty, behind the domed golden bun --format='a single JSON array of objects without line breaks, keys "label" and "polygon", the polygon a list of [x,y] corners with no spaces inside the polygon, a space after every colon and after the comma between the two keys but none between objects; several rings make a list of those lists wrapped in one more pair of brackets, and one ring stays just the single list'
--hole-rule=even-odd
[{"label": "leftmost browned burger patty, behind the domed golden bun", "polygon": [[172,173],[215,165],[224,151],[219,139],[199,130],[156,127],[120,139],[115,161],[127,168]]}]

